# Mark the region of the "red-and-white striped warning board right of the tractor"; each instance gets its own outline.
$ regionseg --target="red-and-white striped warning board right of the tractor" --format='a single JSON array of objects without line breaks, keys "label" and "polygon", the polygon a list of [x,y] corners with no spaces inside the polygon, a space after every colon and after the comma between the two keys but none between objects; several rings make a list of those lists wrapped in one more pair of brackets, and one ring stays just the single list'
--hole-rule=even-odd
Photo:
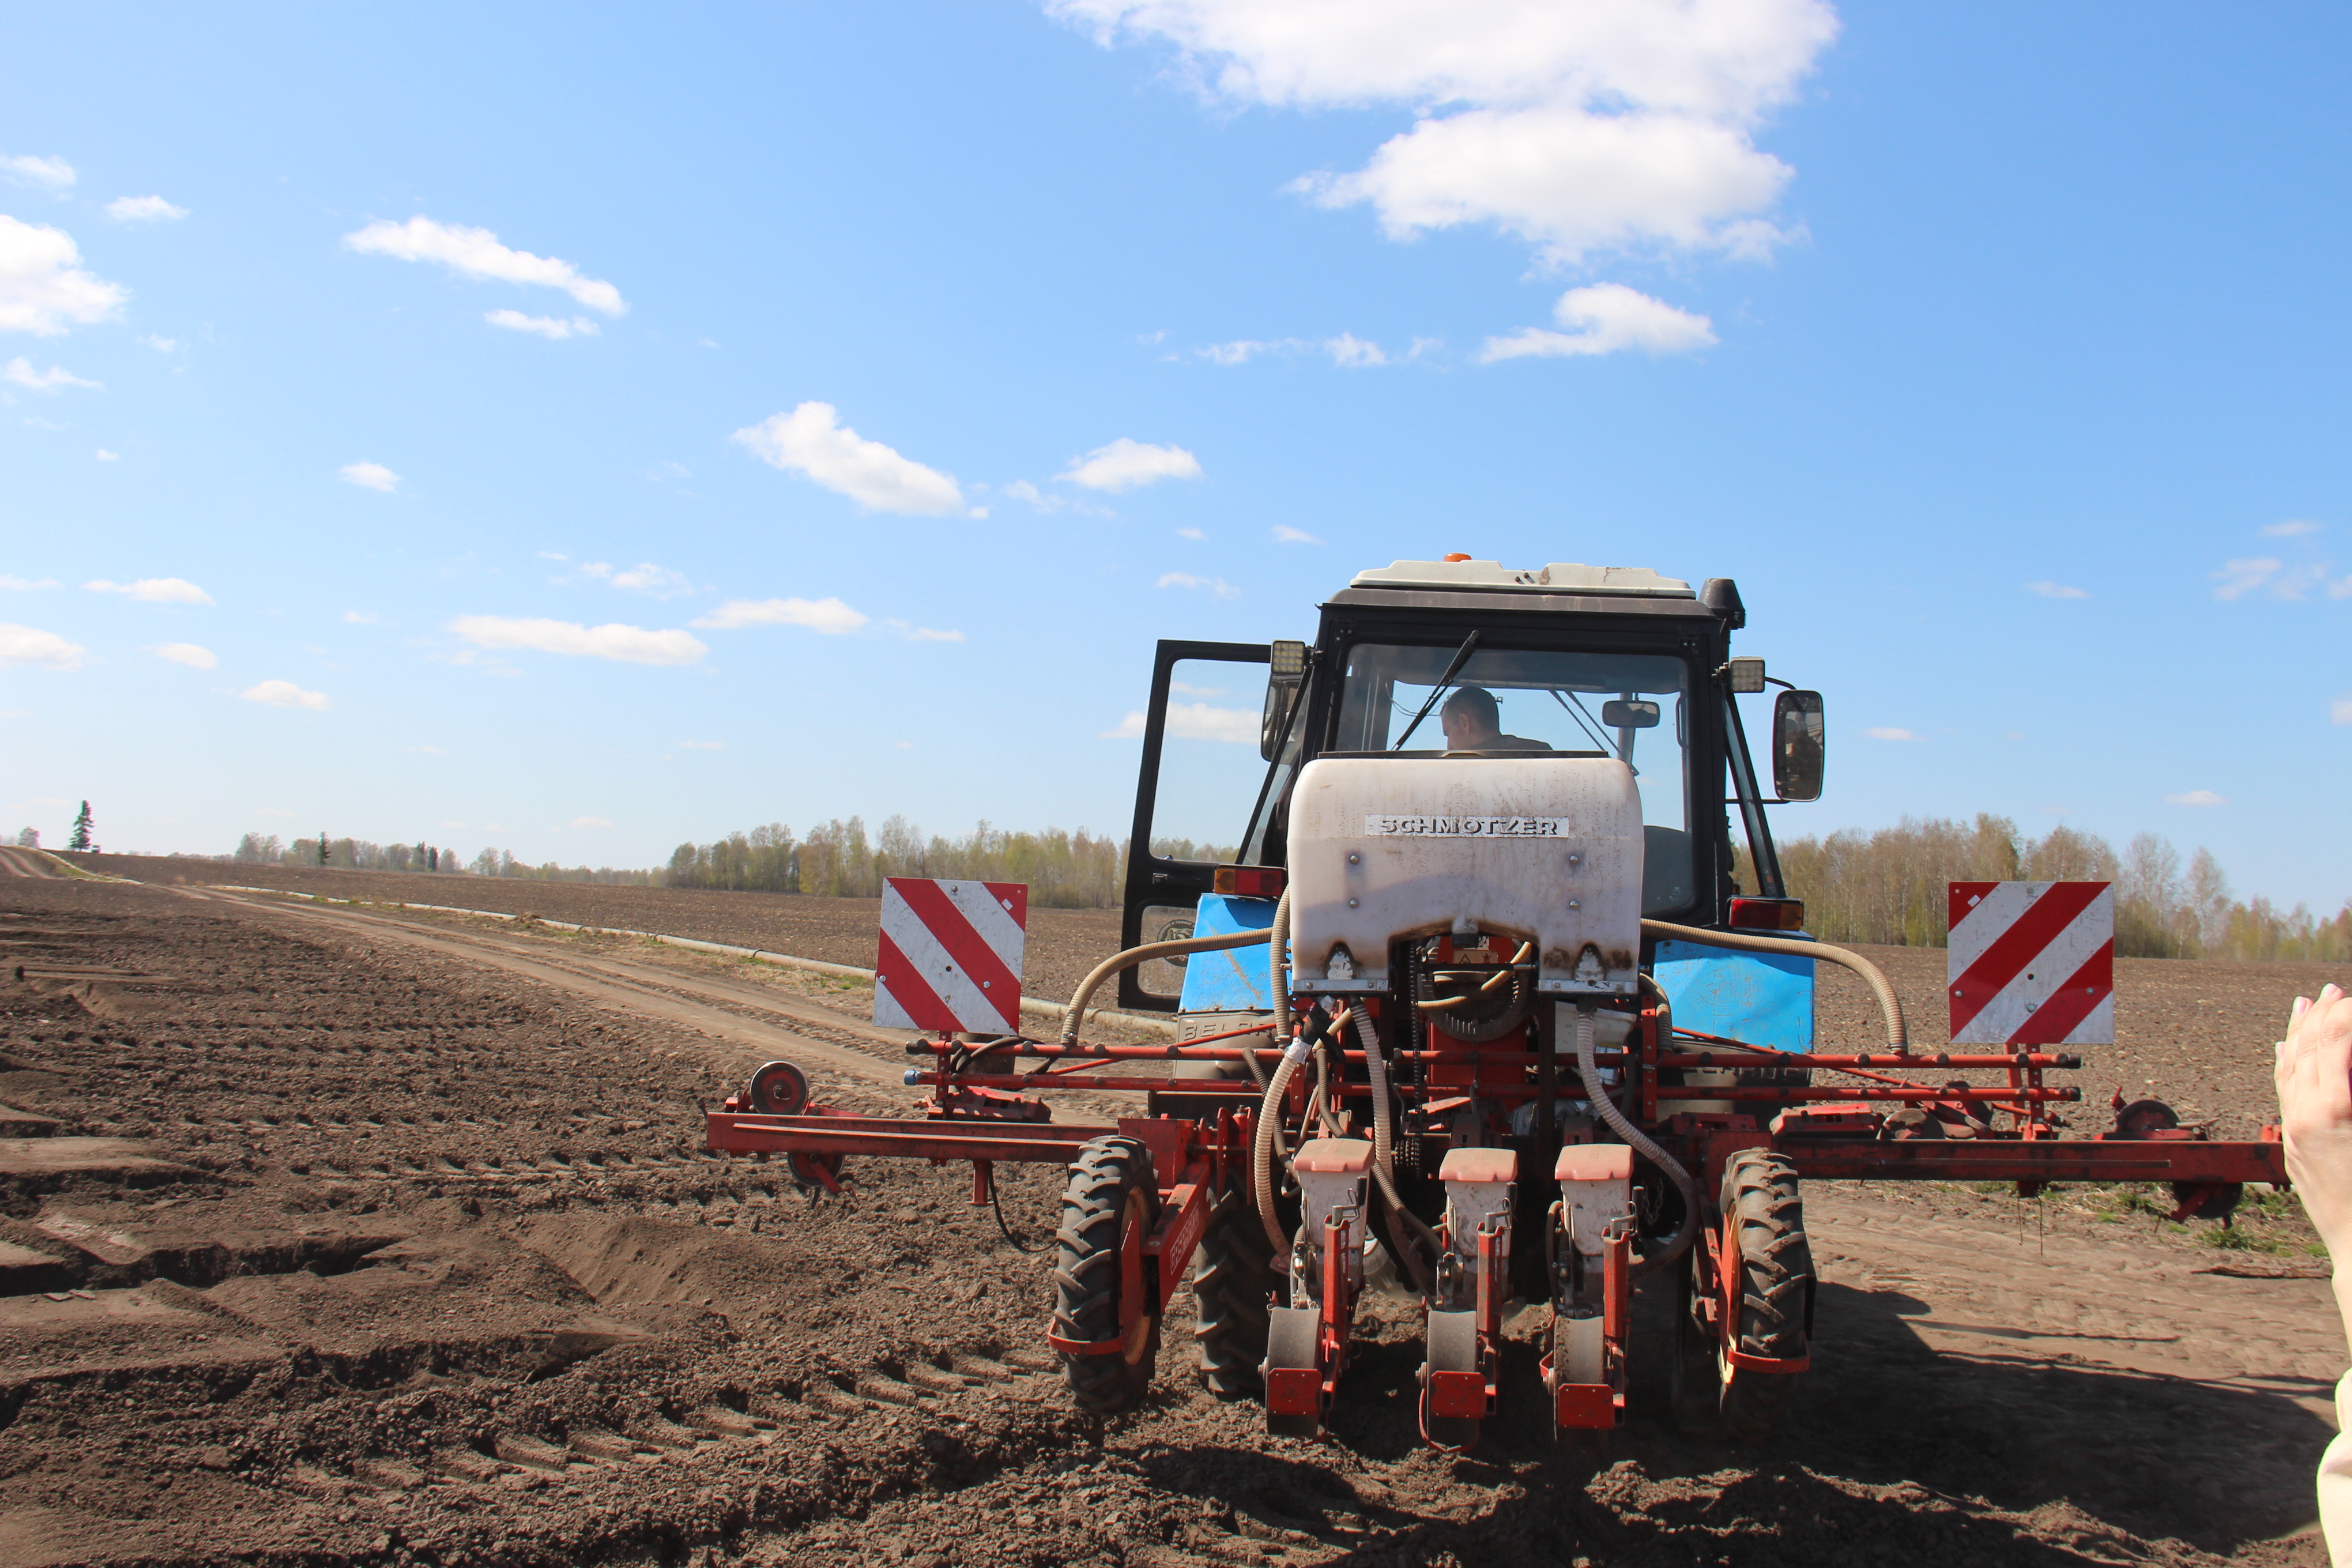
[{"label": "red-and-white striped warning board right of the tractor", "polygon": [[2114,886],[1955,882],[1952,1044],[2112,1046]]}]

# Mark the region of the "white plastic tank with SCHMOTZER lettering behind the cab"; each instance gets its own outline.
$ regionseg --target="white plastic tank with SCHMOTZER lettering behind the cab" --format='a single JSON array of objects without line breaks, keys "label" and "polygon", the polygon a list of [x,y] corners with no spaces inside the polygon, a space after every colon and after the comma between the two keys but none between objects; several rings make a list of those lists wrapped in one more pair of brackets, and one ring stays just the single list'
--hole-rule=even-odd
[{"label": "white plastic tank with SCHMOTZER lettering behind the cab", "polygon": [[1291,983],[1390,990],[1399,938],[1534,940],[1536,990],[1639,985],[1642,797],[1609,757],[1317,757],[1291,795]]}]

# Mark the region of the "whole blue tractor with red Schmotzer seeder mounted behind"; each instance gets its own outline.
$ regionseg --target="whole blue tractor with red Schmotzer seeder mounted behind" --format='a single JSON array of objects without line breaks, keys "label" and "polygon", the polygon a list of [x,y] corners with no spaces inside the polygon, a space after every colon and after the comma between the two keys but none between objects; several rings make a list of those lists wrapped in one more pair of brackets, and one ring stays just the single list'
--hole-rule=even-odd
[{"label": "whole blue tractor with red Schmotzer seeder mounted behind", "polygon": [[[1042,1333],[1096,1415],[1145,1396],[1188,1274],[1209,1389],[1261,1399],[1277,1436],[1331,1429],[1367,1295],[1414,1302],[1414,1420],[1446,1450],[1529,1366],[1555,1436],[1621,1425],[1644,1279],[1675,1293],[1675,1420],[1769,1436],[1813,1356],[1809,1180],[2169,1182],[2176,1218],[2284,1185],[2274,1128],[2213,1140],[2157,1100],[2065,1135],[2082,1091],[2046,1074],[2112,1039],[2096,889],[1952,884],[1952,1039],[1980,1044],[1910,1048],[1886,978],[1797,931],[1764,806],[1818,797],[1820,698],[1778,698],[1766,797],[1740,625],[1729,581],[1449,559],[1364,574],[1312,649],[1162,644],[1122,952],[1061,1037],[1016,1030],[1018,886],[894,882],[969,917],[927,947],[884,900],[877,1020],[906,997],[941,1018],[889,1016],[924,1032],[920,1114],[811,1105],[771,1063],[708,1112],[708,1147],[823,1190],[856,1157],[964,1161],[974,1204],[1000,1164],[1065,1166]],[[1216,661],[1270,663],[1237,865],[1148,849],[1178,670]],[[1444,750],[1406,750],[1432,715]],[[1985,919],[2013,924],[1978,940]],[[1811,1048],[1823,961],[1870,987],[1884,1048]],[[1084,1041],[1112,983],[1190,1037]],[[1056,1121],[1054,1093],[1141,1114]]]}]

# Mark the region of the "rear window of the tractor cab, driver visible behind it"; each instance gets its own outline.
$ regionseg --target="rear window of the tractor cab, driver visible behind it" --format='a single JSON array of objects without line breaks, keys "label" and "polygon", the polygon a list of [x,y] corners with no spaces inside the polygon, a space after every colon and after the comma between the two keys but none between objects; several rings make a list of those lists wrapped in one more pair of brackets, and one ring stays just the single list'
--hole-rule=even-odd
[{"label": "rear window of the tractor cab, driver visible behind it", "polygon": [[1425,712],[1406,741],[1423,755],[1446,750],[1451,733],[1479,750],[1616,757],[1632,766],[1642,790],[1642,912],[1686,907],[1693,893],[1686,665],[1665,654],[1477,646],[1439,689],[1461,646],[1359,642],[1348,649],[1331,750],[1390,752]]}]

